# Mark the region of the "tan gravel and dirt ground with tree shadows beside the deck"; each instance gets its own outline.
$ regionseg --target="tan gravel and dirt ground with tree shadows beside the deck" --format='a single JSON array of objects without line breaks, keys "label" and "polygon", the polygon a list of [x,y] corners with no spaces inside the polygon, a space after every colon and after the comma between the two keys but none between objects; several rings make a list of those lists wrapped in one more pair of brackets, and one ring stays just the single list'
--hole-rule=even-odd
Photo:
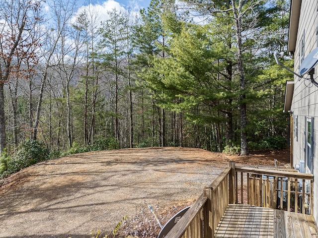
[{"label": "tan gravel and dirt ground with tree shadows beside the deck", "polygon": [[109,234],[123,216],[136,217],[149,204],[159,213],[191,204],[230,160],[274,167],[274,158],[285,166],[289,151],[240,157],[156,147],[45,161],[2,181],[0,238],[88,238],[91,229]]}]

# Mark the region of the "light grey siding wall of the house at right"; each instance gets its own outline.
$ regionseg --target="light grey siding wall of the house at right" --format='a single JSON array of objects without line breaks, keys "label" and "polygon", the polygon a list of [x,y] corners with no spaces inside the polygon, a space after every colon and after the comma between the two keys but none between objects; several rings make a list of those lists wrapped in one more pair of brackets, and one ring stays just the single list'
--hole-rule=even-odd
[{"label": "light grey siding wall of the house at right", "polygon": [[[299,18],[299,28],[297,33],[296,49],[294,53],[294,71],[299,73],[301,63],[301,48],[304,40],[304,57],[318,46],[318,0],[302,0]],[[310,78],[310,75],[305,75]],[[318,81],[318,66],[315,68],[314,78]],[[291,111],[294,117],[293,128],[293,163],[294,168],[305,161],[306,165],[306,125],[307,118],[314,119],[314,217],[318,221],[318,87],[309,80],[294,77],[294,96],[291,105]],[[306,167],[306,173],[311,171]]]}]

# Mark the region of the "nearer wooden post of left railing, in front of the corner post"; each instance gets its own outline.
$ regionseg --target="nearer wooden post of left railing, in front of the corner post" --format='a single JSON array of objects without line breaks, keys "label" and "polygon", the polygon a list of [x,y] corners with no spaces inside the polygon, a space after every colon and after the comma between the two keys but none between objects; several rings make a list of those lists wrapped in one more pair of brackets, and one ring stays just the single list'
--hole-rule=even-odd
[{"label": "nearer wooden post of left railing, in front of the corner post", "polygon": [[213,187],[205,188],[203,190],[203,196],[208,197],[203,207],[203,237],[214,238]]}]

